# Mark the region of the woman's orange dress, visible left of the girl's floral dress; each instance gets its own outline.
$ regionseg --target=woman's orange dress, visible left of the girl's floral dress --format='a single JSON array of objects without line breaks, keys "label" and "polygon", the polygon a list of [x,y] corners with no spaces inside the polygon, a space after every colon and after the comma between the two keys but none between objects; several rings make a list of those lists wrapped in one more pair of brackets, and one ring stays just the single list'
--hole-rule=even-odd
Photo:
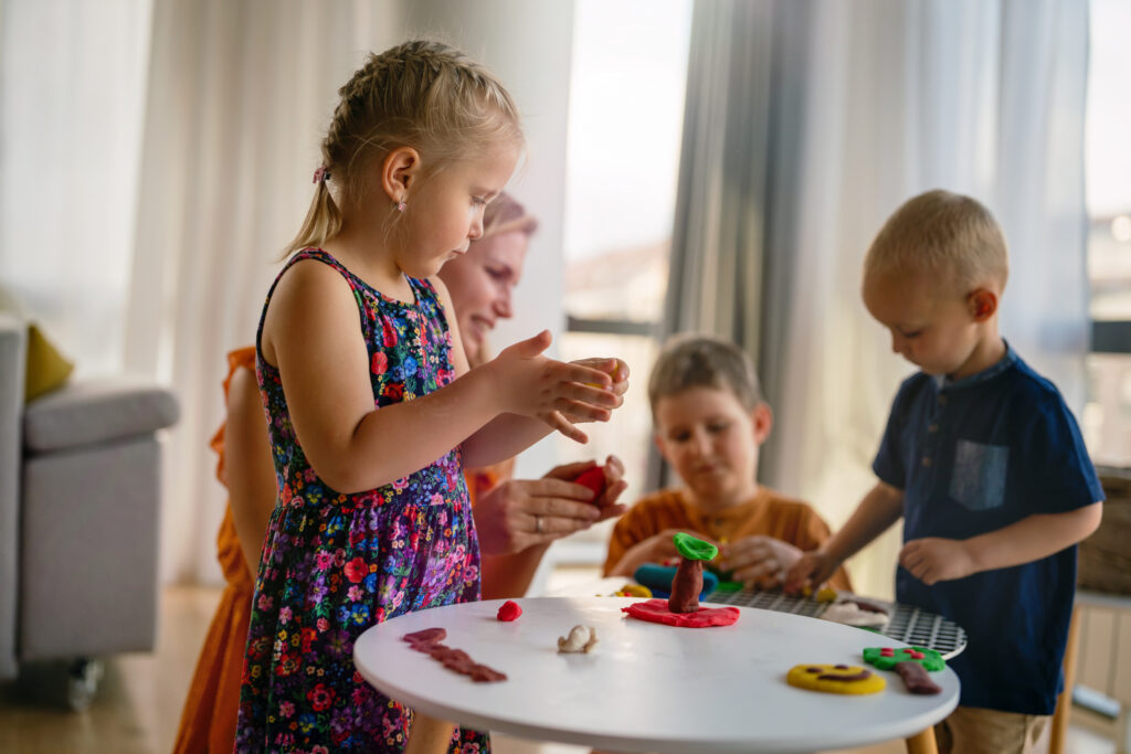
[{"label": "woman's orange dress, visible left of the girl's floral dress", "polygon": [[[256,370],[256,349],[249,347],[231,352],[227,355],[227,366],[225,399],[236,369],[242,366]],[[223,425],[213,437],[211,448],[218,457],[216,477],[226,486]],[[254,583],[243,562],[240,538],[232,523],[231,504],[224,510],[224,520],[216,535],[216,556],[227,583],[211,625],[208,626],[189,695],[184,700],[181,725],[173,744],[174,754],[226,753],[235,748],[235,718],[240,709],[240,679],[243,674],[243,653],[248,642]]]}]

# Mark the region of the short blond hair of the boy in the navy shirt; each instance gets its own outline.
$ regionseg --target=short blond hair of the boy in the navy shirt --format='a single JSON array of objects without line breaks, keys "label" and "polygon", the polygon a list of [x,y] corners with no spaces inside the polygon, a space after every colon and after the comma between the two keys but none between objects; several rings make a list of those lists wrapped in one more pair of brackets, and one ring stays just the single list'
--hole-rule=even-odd
[{"label": "short blond hair of the boy in the navy shirt", "polygon": [[1009,251],[993,215],[970,197],[936,189],[908,199],[888,218],[864,258],[864,277],[938,276],[961,293],[1005,288]]}]

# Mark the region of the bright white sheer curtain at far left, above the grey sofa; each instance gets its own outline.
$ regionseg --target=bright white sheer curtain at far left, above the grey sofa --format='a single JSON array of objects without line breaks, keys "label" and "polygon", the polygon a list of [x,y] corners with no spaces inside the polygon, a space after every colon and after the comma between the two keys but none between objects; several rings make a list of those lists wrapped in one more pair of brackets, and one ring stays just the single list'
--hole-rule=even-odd
[{"label": "bright white sheer curtain at far left, above the grey sofa", "polygon": [[150,6],[0,2],[0,287],[80,374],[122,365]]}]

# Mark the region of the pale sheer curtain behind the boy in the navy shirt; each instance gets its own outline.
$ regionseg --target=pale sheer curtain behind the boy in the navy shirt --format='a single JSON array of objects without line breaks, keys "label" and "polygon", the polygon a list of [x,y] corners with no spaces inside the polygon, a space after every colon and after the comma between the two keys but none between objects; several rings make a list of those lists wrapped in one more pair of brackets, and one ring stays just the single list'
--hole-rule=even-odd
[{"label": "pale sheer curtain behind the boy in the navy shirt", "polygon": [[[744,5],[728,6],[735,23],[750,12]],[[864,310],[860,267],[886,217],[915,193],[947,188],[995,213],[1012,262],[1002,332],[1070,406],[1082,406],[1087,3],[756,5],[774,28],[769,105],[765,122],[752,124],[770,135],[769,158],[731,159],[767,187],[766,200],[743,210],[765,218],[761,285],[749,292],[761,298],[759,336],[693,311],[679,327],[744,333],[739,340],[756,354],[777,415],[762,478],[811,501],[838,527],[874,483],[871,460],[890,400],[912,369]],[[728,28],[697,26],[692,57],[725,45]],[[726,86],[725,78],[691,80],[689,92]],[[717,115],[689,110],[687,128],[711,127],[722,128]],[[681,193],[710,191],[691,167],[682,174]],[[688,213],[683,222],[713,220]],[[690,245],[676,252],[703,253]],[[701,278],[681,280],[696,285]],[[898,541],[892,530],[854,558],[857,589],[891,593]]]}]

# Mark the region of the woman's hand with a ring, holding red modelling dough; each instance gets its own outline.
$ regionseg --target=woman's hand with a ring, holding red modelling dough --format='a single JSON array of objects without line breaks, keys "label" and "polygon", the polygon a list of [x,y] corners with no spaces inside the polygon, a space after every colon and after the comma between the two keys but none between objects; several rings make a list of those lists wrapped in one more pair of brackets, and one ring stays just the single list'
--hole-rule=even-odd
[{"label": "woman's hand with a ring, holding red modelling dough", "polygon": [[615,456],[605,463],[607,485],[599,500],[588,487],[572,483],[594,466],[593,461],[566,463],[541,479],[509,479],[482,495],[473,514],[483,553],[520,553],[623,513],[625,508],[616,499],[628,484],[621,478],[624,465]]}]

